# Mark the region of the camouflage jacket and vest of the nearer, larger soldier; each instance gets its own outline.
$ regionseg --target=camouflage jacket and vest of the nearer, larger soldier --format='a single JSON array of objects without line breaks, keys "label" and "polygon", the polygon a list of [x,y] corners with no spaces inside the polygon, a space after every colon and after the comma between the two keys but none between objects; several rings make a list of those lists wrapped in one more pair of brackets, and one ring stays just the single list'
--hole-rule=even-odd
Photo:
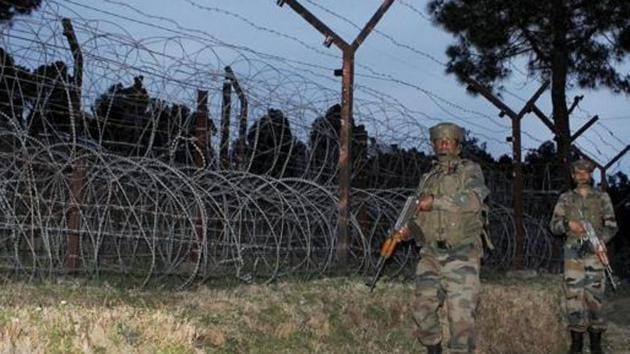
[{"label": "camouflage jacket and vest of the nearer, larger soldier", "polygon": [[443,241],[449,247],[474,244],[481,248],[482,212],[489,192],[477,163],[458,159],[449,171],[436,163],[417,189],[417,195],[434,197],[431,211],[417,213],[411,220],[417,243],[431,246]]}]

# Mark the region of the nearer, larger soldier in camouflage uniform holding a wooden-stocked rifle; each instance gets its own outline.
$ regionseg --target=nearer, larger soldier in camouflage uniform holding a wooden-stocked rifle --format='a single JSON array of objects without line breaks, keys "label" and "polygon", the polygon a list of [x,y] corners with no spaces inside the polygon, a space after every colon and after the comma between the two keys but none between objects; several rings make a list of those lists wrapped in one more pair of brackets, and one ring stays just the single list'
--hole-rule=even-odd
[{"label": "nearer, larger soldier in camouflage uniform holding a wooden-stocked rifle", "polygon": [[474,352],[482,212],[489,190],[479,165],[459,156],[462,128],[441,123],[430,135],[438,161],[421,178],[415,217],[401,230],[403,239],[414,237],[422,246],[416,267],[415,333],[429,353],[441,353],[438,310],[446,305],[450,352]]}]

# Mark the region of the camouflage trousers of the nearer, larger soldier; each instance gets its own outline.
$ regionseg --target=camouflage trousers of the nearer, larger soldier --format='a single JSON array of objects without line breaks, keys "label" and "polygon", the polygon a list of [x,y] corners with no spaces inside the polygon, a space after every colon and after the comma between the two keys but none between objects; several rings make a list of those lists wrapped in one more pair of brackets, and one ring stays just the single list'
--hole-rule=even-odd
[{"label": "camouflage trousers of the nearer, larger soldier", "polygon": [[416,267],[413,317],[424,345],[442,341],[438,310],[446,306],[451,353],[474,352],[481,250],[474,245],[440,250],[423,247]]}]

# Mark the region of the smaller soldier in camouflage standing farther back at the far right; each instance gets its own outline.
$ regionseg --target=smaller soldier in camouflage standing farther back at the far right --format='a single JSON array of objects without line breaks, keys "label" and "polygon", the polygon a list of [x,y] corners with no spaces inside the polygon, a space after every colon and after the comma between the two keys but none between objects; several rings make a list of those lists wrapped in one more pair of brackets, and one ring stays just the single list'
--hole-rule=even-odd
[{"label": "smaller soldier in camouflage standing farther back at the far right", "polygon": [[601,353],[601,336],[606,330],[602,302],[606,286],[604,267],[584,242],[583,221],[590,222],[604,243],[617,232],[617,222],[608,194],[591,186],[593,163],[578,160],[571,165],[576,188],[563,193],[553,211],[551,232],[566,235],[564,242],[564,292],[571,333],[570,353],[581,353],[583,334],[588,331],[591,353]]}]

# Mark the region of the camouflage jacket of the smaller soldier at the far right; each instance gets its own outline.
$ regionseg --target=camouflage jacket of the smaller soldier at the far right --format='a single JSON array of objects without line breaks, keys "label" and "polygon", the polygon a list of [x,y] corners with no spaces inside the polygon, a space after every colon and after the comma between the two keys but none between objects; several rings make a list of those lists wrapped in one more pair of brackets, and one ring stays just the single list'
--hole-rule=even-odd
[{"label": "camouflage jacket of the smaller soldier at the far right", "polygon": [[569,245],[580,243],[581,236],[569,230],[569,220],[586,220],[593,225],[597,237],[610,241],[617,232],[615,211],[608,193],[589,187],[589,193],[582,197],[577,189],[562,193],[553,210],[549,228],[556,235],[567,235]]}]

